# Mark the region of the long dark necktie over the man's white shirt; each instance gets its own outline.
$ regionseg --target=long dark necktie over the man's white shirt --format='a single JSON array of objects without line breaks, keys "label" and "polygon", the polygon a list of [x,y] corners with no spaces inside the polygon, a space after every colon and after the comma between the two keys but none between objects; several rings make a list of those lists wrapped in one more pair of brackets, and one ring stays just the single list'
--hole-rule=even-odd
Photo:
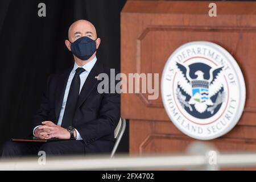
[{"label": "long dark necktie over the man's white shirt", "polygon": [[65,111],[63,115],[63,119],[61,122],[61,127],[67,128],[72,126],[73,117],[76,111],[77,100],[79,98],[79,90],[80,90],[80,74],[84,72],[84,68],[77,68],[75,76],[71,82],[71,86],[68,93],[67,103],[65,106]]}]

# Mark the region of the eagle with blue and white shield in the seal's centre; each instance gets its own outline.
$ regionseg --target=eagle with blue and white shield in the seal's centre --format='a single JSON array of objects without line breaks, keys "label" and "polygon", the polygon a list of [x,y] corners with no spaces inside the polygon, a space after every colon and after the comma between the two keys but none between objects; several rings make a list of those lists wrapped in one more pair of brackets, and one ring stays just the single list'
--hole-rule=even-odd
[{"label": "eagle with blue and white shield in the seal's centre", "polygon": [[[201,66],[198,64],[201,64]],[[199,114],[208,112],[213,115],[225,96],[220,79],[223,67],[200,70],[198,68],[209,66],[197,63],[197,70],[191,73],[191,68],[187,65],[176,62],[176,66],[179,74],[177,98],[181,106],[187,107],[190,113],[196,110]],[[205,73],[208,76],[205,76]],[[193,78],[191,75],[193,75]]]}]

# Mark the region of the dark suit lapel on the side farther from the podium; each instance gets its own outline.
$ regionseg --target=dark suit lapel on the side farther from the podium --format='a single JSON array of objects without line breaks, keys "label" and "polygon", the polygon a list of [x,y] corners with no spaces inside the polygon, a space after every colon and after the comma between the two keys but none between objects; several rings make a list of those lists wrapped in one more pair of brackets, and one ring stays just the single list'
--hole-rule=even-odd
[{"label": "dark suit lapel on the side farther from the podium", "polygon": [[65,89],[66,89],[67,82],[68,82],[68,77],[70,75],[70,72],[72,71],[72,68],[73,68],[73,66],[71,68],[69,68],[68,71],[66,71],[65,73],[60,75],[59,79],[58,79],[58,82],[57,82],[56,101],[55,101],[56,123],[59,119],[60,110],[61,110],[61,106],[62,106],[62,103],[63,103],[64,94],[65,94]]}]

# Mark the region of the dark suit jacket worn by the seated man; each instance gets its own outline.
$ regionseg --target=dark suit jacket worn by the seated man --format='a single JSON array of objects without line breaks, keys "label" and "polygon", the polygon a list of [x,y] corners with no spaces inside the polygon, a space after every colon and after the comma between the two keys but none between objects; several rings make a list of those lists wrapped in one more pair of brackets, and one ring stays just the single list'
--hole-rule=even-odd
[{"label": "dark suit jacket worn by the seated man", "polygon": [[[48,77],[46,92],[35,114],[33,127],[42,125],[43,121],[52,121],[57,124],[72,68],[62,74]],[[73,127],[79,131],[84,140],[87,153],[112,151],[114,129],[120,118],[120,95],[118,93],[100,94],[97,91],[100,80],[95,76],[100,73],[108,74],[110,82],[110,69],[97,60],[82,86],[73,118]]]}]

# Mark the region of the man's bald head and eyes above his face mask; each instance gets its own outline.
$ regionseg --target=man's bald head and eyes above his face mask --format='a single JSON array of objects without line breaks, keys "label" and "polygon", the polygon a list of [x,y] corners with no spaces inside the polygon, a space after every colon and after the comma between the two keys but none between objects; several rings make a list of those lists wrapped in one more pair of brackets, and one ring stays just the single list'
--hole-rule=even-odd
[{"label": "man's bald head and eyes above his face mask", "polygon": [[96,28],[88,20],[77,20],[68,29],[68,39],[70,42],[74,42],[82,36],[88,36],[88,38],[95,40],[97,38]]}]

